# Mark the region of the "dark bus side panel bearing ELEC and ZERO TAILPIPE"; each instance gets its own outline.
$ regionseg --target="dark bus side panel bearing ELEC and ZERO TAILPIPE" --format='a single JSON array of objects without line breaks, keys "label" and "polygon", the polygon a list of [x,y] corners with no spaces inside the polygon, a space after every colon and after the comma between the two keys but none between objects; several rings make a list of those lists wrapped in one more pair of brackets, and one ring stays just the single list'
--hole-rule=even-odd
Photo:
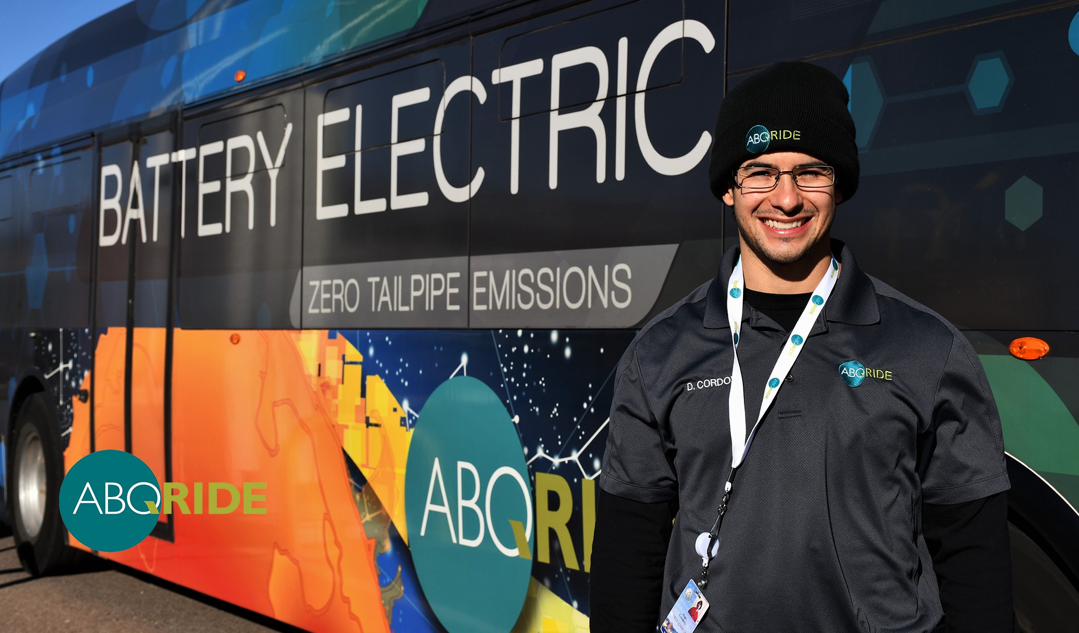
[{"label": "dark bus side panel bearing ELEC and ZERO TAILPIPE", "polygon": [[469,112],[494,109],[466,41],[308,92],[304,327],[463,327]]}]

